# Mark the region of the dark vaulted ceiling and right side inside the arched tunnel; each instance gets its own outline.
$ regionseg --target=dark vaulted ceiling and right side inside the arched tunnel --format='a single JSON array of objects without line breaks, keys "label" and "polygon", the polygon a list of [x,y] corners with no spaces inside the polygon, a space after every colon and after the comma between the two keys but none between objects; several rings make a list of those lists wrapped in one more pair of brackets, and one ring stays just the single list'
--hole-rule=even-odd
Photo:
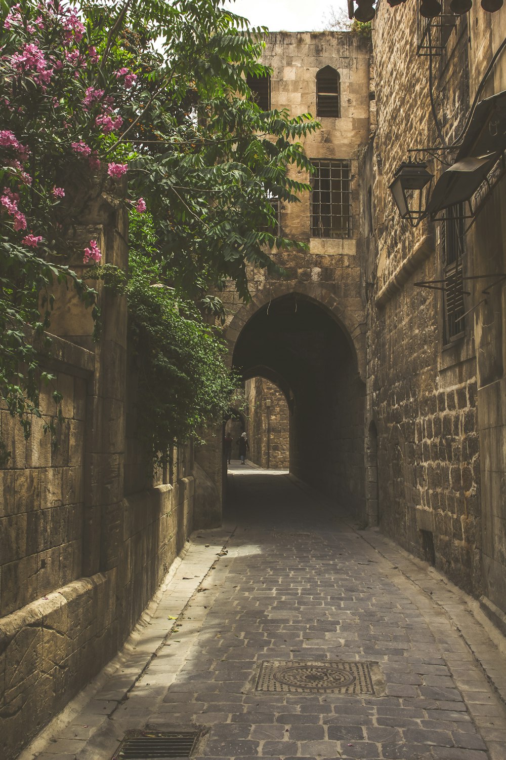
[{"label": "dark vaulted ceiling and right side inside the arched tunnel", "polygon": [[275,382],[290,410],[290,470],[364,509],[364,395],[351,340],[325,306],[291,293],[262,306],[234,348],[244,379]]}]

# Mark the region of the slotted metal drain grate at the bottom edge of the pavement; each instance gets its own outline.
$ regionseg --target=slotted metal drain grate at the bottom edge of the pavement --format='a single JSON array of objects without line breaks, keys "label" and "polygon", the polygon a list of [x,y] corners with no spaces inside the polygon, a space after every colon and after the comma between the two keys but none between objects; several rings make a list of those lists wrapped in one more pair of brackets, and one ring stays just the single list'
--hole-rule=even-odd
[{"label": "slotted metal drain grate at the bottom edge of the pavement", "polygon": [[128,731],[112,760],[189,758],[198,731]]}]

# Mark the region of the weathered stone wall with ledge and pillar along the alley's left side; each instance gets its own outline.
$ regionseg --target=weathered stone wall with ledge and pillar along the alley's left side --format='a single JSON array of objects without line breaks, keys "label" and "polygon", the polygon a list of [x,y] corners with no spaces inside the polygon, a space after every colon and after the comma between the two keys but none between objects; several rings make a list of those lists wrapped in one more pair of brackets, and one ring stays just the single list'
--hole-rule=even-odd
[{"label": "weathered stone wall with ledge and pillar along the alley's left side", "polygon": [[[125,225],[121,204],[99,198],[77,237],[98,239],[103,260],[124,268]],[[56,380],[41,389],[45,413],[55,413],[54,389],[64,397],[58,445],[37,419],[25,441],[0,410],[12,453],[0,470],[2,760],[114,656],[193,529],[190,448],[174,451],[150,482],[146,470],[125,473],[135,399],[133,375],[127,396],[126,302],[101,283],[99,297],[103,335],[93,344],[90,314],[58,293],[58,337],[43,357]],[[145,463],[138,451],[133,460]]]}]

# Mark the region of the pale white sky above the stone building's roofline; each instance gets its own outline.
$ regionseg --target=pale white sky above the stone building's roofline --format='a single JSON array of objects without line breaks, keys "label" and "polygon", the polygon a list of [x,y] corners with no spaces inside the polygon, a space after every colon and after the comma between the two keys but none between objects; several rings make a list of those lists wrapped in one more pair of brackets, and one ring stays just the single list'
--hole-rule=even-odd
[{"label": "pale white sky above the stone building's roofline", "polygon": [[253,27],[269,27],[272,32],[322,30],[323,18],[332,6],[347,8],[346,0],[229,0],[231,10],[246,16]]}]

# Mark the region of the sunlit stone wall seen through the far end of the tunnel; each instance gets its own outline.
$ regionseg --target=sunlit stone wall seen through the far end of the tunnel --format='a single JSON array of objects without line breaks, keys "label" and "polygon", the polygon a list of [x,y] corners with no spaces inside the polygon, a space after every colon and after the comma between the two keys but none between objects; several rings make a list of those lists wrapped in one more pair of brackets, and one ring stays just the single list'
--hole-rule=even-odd
[{"label": "sunlit stone wall seen through the far end of the tunnel", "polygon": [[263,378],[246,382],[248,458],[270,470],[290,465],[290,415],[284,394]]}]

